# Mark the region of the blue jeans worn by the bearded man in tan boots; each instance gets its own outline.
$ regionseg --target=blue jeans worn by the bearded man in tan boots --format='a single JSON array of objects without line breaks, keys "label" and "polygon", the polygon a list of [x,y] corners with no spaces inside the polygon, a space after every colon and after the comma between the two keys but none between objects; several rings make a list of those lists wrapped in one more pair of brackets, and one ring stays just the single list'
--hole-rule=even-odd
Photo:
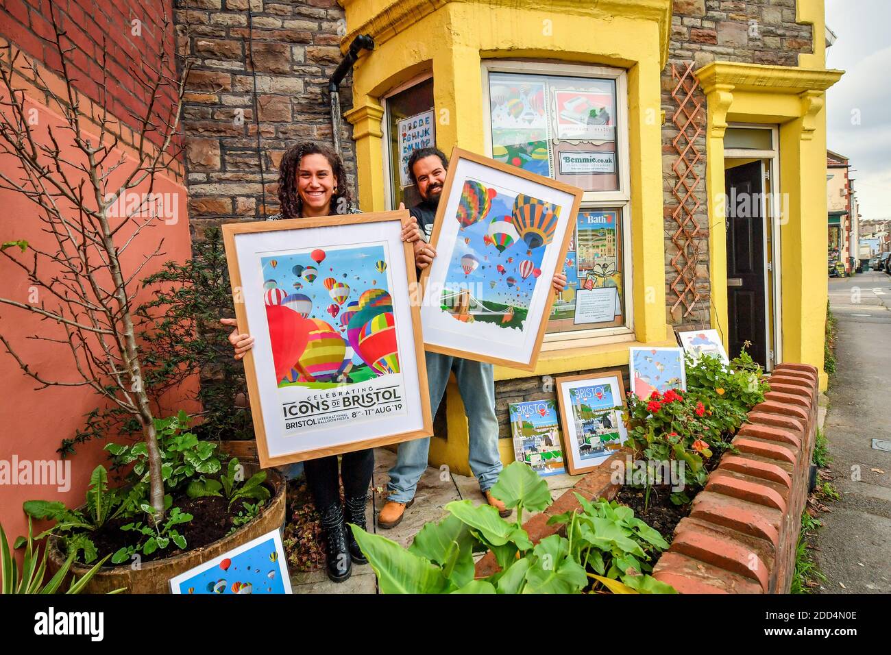
[{"label": "blue jeans worn by the bearded man in tan boots", "polygon": [[[498,420],[495,418],[495,371],[492,364],[473,362],[439,353],[425,353],[427,380],[430,389],[430,410],[437,415],[439,403],[446,393],[449,373],[454,369],[458,389],[464,401],[470,440],[468,463],[479,480],[479,488],[487,491],[502,470],[498,454]],[[427,469],[430,439],[412,439],[399,444],[396,465],[389,471],[387,500],[408,503],[414,497]]]}]

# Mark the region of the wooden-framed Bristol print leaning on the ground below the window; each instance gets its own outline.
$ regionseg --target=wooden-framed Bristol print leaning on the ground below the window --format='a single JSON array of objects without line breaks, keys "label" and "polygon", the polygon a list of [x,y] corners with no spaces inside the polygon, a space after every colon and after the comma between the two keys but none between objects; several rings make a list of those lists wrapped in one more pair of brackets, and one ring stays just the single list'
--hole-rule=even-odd
[{"label": "wooden-framed Bristol print leaning on the ground below the window", "polygon": [[570,375],[556,382],[566,468],[570,475],[593,471],[628,438],[622,373]]}]

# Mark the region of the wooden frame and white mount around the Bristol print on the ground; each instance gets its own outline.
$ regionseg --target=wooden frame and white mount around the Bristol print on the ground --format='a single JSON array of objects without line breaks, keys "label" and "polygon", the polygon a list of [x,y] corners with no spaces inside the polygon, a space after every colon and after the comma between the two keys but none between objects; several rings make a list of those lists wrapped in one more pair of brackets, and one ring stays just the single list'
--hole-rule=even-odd
[{"label": "wooden frame and white mount around the Bristol print on the ground", "polygon": [[[628,438],[628,430],[625,427],[625,422],[622,418],[622,408],[625,407],[625,383],[622,381],[622,372],[616,370],[604,371],[597,374],[584,373],[582,375],[564,375],[558,377],[555,380],[555,384],[557,387],[557,406],[559,408],[558,411],[561,426],[560,434],[562,435],[563,445],[563,465],[566,467],[566,470],[570,475],[581,475],[593,471],[600,466],[601,463],[605,462],[617,448],[625,444],[625,441]],[[582,445],[579,444],[578,441],[579,423],[583,423],[584,430],[585,421],[583,416],[576,415],[574,408],[571,406],[573,405],[571,402],[573,399],[571,398],[571,392],[576,389],[583,389],[583,391],[578,394],[579,399],[583,399],[584,396],[590,396],[592,397],[592,403],[596,404],[599,402],[597,399],[597,389],[606,385],[609,385],[609,396],[612,397],[612,402],[610,403],[609,401],[606,401],[606,405],[609,406],[604,405],[598,407],[594,411],[611,413],[611,425],[609,425],[609,427],[604,427],[603,423],[598,423],[595,417],[590,419],[588,423],[591,424],[590,428],[592,433],[601,430],[615,430],[618,435],[618,443],[615,448],[610,448],[609,446],[612,445],[611,442],[613,439],[610,439],[606,446],[603,445],[601,440],[601,444],[599,444],[599,446],[602,446],[601,453],[598,449],[592,448],[590,452],[585,455],[581,452]],[[603,390],[602,393],[604,398],[601,398],[601,400],[605,400],[606,391]],[[619,407],[619,409],[615,409],[616,407]],[[599,437],[599,435],[595,436]],[[589,461],[585,462],[585,459]]]}]

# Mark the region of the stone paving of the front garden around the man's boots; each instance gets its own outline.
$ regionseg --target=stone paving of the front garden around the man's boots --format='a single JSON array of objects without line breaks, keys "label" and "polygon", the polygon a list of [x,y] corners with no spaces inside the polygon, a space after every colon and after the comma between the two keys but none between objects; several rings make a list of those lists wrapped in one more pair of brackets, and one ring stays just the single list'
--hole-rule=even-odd
[{"label": "stone paving of the front garden around the man's boots", "polygon": [[[418,490],[414,495],[414,504],[405,510],[405,517],[396,528],[382,530],[377,527],[375,517],[380,508],[387,502],[383,493],[387,488],[389,476],[387,471],[396,463],[396,454],[386,448],[374,450],[374,474],[372,476],[372,500],[368,505],[366,517],[369,532],[392,539],[397,544],[407,546],[412,543],[416,534],[428,521],[443,519],[446,504],[454,500],[470,499],[473,504],[483,504],[485,500],[479,491],[477,479],[456,475],[451,471],[440,471],[428,467],[418,482]],[[556,499],[564,489],[576,484],[583,476],[570,476],[566,473],[551,475],[544,480]],[[524,522],[535,516],[533,512],[523,512]],[[516,520],[511,514],[507,520]],[[481,556],[481,555],[480,555]],[[378,580],[370,565],[353,565],[353,575],[346,582],[334,583],[328,579],[324,569],[296,573],[290,577],[290,585],[294,594],[377,594]]]}]

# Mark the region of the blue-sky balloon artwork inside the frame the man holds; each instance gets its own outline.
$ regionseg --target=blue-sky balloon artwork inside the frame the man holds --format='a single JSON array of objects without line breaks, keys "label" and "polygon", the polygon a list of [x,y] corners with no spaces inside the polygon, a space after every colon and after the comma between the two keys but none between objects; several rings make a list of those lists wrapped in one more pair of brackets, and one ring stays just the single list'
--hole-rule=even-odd
[{"label": "blue-sky balloon artwork inside the frame the man holds", "polygon": [[523,329],[560,208],[522,193],[464,182],[460,225],[444,289],[443,311],[470,323]]}]

